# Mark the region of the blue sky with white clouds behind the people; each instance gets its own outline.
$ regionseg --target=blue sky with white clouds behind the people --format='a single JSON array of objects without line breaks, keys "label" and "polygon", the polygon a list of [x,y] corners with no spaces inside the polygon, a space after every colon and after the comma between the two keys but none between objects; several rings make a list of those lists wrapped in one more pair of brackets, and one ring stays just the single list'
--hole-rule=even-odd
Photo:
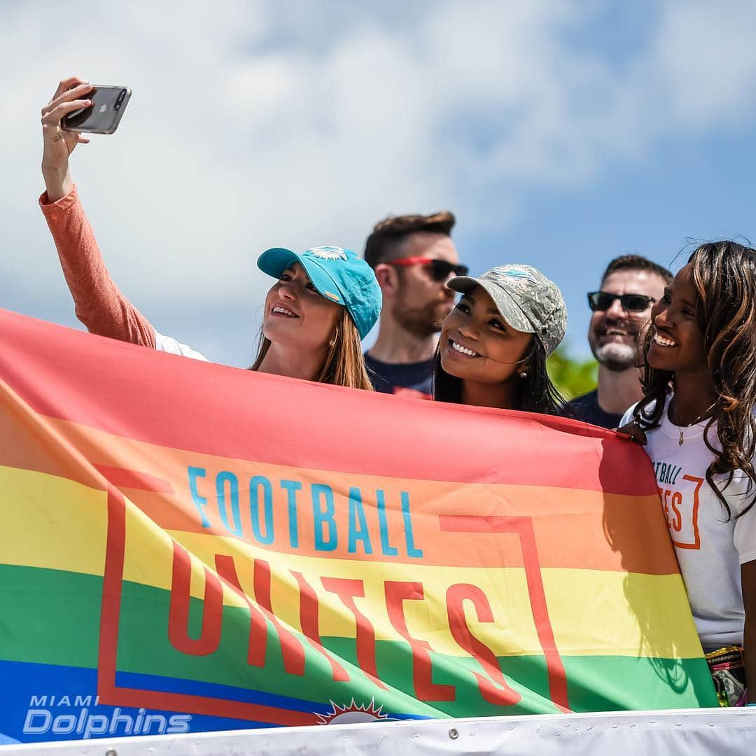
[{"label": "blue sky with white clouds behind the people", "polygon": [[113,277],[228,364],[255,351],[262,249],[361,249],[392,213],[454,210],[473,271],[541,268],[576,354],[613,256],[756,236],[753,2],[51,8],[0,2],[5,308],[77,325],[36,207],[39,109],[70,73],[134,90],[72,162]]}]

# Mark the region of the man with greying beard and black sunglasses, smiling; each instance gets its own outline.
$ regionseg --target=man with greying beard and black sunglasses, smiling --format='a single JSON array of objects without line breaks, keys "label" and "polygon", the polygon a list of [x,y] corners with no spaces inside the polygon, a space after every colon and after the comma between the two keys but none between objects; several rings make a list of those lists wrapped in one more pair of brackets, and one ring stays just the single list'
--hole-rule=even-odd
[{"label": "man with greying beard and black sunglasses, smiling", "polygon": [[578,420],[616,428],[627,407],[642,398],[638,336],[671,280],[667,268],[640,255],[624,255],[609,263],[600,290],[588,294],[593,311],[588,343],[599,362],[599,381],[597,389],[568,402]]}]

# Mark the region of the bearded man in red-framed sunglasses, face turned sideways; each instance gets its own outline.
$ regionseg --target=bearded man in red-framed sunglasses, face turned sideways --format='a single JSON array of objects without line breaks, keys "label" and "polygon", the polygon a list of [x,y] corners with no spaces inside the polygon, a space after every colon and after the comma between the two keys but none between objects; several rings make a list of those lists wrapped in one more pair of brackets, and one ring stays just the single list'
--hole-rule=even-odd
[{"label": "bearded man in red-framed sunglasses, face turned sideways", "polygon": [[454,307],[446,286],[465,275],[451,240],[454,215],[396,215],[373,228],[365,260],[383,290],[375,344],[365,362],[376,391],[431,398],[433,355],[444,318]]}]

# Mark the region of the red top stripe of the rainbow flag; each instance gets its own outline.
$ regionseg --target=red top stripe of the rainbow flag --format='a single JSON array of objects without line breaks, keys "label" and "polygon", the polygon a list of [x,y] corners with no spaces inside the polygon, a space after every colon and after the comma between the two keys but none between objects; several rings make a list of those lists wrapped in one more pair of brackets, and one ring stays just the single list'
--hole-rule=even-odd
[{"label": "red top stripe of the rainbow flag", "polygon": [[[397,401],[250,373],[7,311],[0,330],[0,376],[24,401],[49,417],[124,437],[357,474],[656,491],[640,448],[574,420]],[[265,433],[256,434],[256,426]]]}]

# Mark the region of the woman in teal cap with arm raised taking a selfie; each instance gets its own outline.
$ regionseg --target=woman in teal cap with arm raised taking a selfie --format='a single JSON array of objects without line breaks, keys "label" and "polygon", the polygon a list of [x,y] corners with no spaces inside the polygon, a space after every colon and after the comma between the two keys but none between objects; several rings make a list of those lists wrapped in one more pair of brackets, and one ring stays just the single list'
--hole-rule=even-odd
[{"label": "woman in teal cap with arm raised taking a selfie", "polygon": [[[89,106],[91,89],[83,79],[66,79],[42,109],[46,191],[39,203],[76,302],[76,316],[91,333],[206,359],[156,331],[105,268],[69,166],[76,145],[89,140],[60,125],[68,113]],[[277,283],[265,297],[262,340],[251,369],[371,390],[360,342],[380,315],[381,291],[367,263],[348,249],[321,246],[299,254],[268,249],[258,267]]]}]

